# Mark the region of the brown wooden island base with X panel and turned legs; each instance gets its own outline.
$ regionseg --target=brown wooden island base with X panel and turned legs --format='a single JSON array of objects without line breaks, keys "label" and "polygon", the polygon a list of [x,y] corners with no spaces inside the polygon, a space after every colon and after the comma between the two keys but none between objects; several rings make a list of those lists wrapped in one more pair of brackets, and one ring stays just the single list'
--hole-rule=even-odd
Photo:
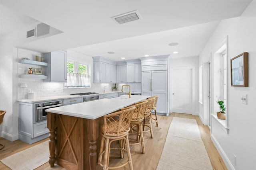
[{"label": "brown wooden island base with X panel and turned legs", "polygon": [[49,164],[72,170],[95,170],[103,117],[85,119],[48,112]]}]

